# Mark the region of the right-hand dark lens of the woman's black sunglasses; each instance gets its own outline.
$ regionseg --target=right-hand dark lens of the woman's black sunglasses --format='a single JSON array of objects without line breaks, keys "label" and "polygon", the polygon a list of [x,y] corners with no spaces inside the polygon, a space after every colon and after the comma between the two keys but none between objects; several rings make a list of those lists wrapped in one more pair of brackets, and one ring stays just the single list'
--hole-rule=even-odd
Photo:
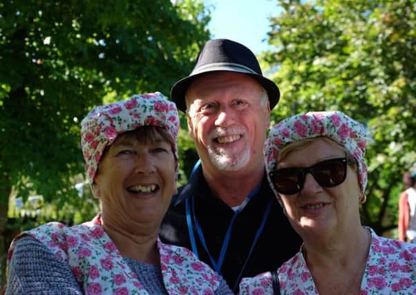
[{"label": "right-hand dark lens of the woman's black sunglasses", "polygon": [[323,187],[335,187],[346,179],[346,160],[332,159],[312,167],[316,181]]}]

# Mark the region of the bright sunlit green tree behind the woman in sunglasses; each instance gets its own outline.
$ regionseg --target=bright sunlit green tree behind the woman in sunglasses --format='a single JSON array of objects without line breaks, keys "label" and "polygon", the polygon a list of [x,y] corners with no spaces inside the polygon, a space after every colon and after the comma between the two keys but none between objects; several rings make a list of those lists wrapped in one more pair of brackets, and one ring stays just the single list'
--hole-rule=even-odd
[{"label": "bright sunlit green tree behind the woman in sunglasses", "polygon": [[281,87],[275,121],[340,110],[366,124],[371,140],[363,223],[396,227],[401,175],[416,162],[414,0],[277,1],[263,66]]}]

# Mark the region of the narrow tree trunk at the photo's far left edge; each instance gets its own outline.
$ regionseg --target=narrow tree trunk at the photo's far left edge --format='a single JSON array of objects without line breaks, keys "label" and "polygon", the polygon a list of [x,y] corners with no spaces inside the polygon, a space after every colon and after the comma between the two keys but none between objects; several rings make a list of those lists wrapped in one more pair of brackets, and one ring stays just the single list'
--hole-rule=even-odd
[{"label": "narrow tree trunk at the photo's far left edge", "polygon": [[6,285],[6,257],[8,250],[8,238],[6,226],[8,220],[9,196],[12,185],[8,175],[0,177],[0,291]]}]

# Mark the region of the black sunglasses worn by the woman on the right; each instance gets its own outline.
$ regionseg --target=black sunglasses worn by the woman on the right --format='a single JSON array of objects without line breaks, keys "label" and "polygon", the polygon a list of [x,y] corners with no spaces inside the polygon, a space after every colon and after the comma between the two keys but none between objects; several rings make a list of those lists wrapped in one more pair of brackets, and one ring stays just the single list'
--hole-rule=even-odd
[{"label": "black sunglasses worn by the woman on the right", "polygon": [[305,184],[306,174],[311,173],[321,187],[336,187],[347,177],[348,158],[335,158],[304,168],[282,168],[270,172],[276,191],[285,195],[299,193]]}]

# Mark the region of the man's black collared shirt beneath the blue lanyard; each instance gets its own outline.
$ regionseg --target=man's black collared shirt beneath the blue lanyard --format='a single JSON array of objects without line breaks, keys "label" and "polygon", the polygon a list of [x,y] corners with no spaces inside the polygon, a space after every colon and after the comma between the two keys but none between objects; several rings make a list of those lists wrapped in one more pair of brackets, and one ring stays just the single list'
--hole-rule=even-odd
[{"label": "man's black collared shirt beneath the blue lanyard", "polygon": [[[234,211],[211,195],[200,166],[189,183],[181,187],[178,195],[173,197],[171,207],[162,221],[160,238],[162,242],[192,249],[185,208],[187,200],[191,207],[192,199],[195,202],[196,216],[192,216],[191,208],[189,213],[198,256],[215,269],[211,258],[215,263],[218,262]],[[270,209],[267,208],[269,206]],[[211,258],[198,236],[194,218],[200,225]],[[232,252],[225,252],[220,273],[235,292],[241,278],[276,269],[276,265],[280,266],[299,251],[300,246],[301,238],[292,229],[267,183],[267,178],[264,177],[257,193],[234,220],[228,244],[228,249],[232,249]]]}]

